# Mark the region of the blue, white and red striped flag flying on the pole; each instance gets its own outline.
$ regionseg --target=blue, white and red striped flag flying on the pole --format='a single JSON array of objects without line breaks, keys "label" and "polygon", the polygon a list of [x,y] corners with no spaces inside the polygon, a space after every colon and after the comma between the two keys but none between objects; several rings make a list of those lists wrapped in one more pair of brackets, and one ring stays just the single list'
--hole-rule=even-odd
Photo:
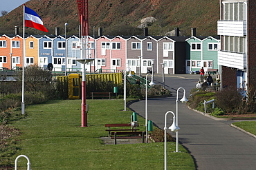
[{"label": "blue, white and red striped flag flying on the pole", "polygon": [[38,14],[26,6],[24,6],[24,20],[25,27],[31,27],[40,31],[48,32]]}]

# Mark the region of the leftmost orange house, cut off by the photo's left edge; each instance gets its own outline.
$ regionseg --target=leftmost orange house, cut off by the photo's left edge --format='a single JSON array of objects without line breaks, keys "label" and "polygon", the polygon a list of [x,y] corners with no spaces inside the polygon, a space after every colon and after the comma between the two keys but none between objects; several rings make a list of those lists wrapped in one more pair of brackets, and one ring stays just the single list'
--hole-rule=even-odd
[{"label": "leftmost orange house, cut off by the photo's left edge", "polygon": [[0,36],[0,70],[5,67],[10,69],[10,37]]}]

